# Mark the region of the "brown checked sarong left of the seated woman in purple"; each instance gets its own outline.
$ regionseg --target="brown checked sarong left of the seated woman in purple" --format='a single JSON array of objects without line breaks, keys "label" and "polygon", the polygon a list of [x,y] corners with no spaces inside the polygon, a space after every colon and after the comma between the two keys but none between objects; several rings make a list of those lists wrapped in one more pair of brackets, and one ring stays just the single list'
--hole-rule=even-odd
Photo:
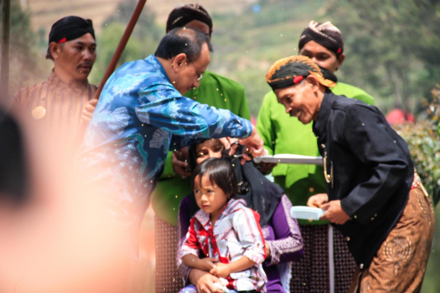
[{"label": "brown checked sarong left of the seated woman in purple", "polygon": [[156,247],[156,293],[176,293],[183,288],[176,267],[177,227],[154,217],[154,242]]}]

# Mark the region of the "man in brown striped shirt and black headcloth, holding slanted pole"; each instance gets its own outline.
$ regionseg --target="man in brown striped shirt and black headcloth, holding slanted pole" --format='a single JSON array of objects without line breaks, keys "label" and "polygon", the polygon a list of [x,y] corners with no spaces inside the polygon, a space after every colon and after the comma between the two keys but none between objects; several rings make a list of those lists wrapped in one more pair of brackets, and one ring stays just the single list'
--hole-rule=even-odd
[{"label": "man in brown striped shirt and black headcloth, holding slanted pole", "polygon": [[55,22],[46,58],[54,62],[48,80],[19,90],[13,109],[74,151],[97,101],[92,99],[96,86],[87,81],[96,59],[92,21],[66,16]]}]

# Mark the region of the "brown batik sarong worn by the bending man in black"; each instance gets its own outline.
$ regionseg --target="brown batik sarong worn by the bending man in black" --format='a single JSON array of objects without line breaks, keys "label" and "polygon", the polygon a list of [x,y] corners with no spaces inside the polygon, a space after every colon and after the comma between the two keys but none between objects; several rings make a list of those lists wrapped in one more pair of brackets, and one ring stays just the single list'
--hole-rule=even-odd
[{"label": "brown batik sarong worn by the bending man in black", "polygon": [[356,269],[349,292],[420,292],[433,233],[431,199],[416,174],[399,221],[382,243],[370,267],[363,272]]}]

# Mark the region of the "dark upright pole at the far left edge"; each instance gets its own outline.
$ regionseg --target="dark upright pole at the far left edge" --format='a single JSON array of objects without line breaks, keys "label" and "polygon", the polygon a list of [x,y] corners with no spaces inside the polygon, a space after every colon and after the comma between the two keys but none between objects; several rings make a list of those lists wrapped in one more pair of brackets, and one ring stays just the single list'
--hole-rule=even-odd
[{"label": "dark upright pole at the far left edge", "polygon": [[1,71],[0,85],[3,98],[8,96],[9,87],[9,29],[11,24],[11,0],[3,0],[1,38]]}]

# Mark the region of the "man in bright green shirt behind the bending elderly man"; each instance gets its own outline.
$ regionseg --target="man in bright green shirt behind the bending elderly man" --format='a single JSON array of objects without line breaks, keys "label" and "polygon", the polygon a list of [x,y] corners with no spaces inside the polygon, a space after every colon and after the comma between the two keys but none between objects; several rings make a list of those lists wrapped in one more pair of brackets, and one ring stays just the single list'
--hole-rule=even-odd
[{"label": "man in bright green shirt behind the bending elderly man", "polygon": [[[330,22],[310,22],[301,33],[299,53],[311,58],[330,72],[335,72],[345,59],[342,34]],[[356,98],[373,105],[374,98],[365,91],[337,82],[330,90],[337,95]],[[279,104],[275,93],[264,96],[257,119],[257,130],[270,155],[290,153],[319,156],[312,123],[302,124],[290,117]],[[271,168],[273,167],[273,170]],[[261,171],[272,171],[274,181],[286,192],[293,206],[305,206],[308,198],[326,193],[323,167],[316,165],[278,164],[261,165]],[[328,222],[298,220],[304,239],[304,257],[293,264],[292,292],[346,292],[350,286],[355,263],[340,232],[334,233],[334,283],[330,280],[328,257]],[[333,261],[330,260],[330,263]]]}]

